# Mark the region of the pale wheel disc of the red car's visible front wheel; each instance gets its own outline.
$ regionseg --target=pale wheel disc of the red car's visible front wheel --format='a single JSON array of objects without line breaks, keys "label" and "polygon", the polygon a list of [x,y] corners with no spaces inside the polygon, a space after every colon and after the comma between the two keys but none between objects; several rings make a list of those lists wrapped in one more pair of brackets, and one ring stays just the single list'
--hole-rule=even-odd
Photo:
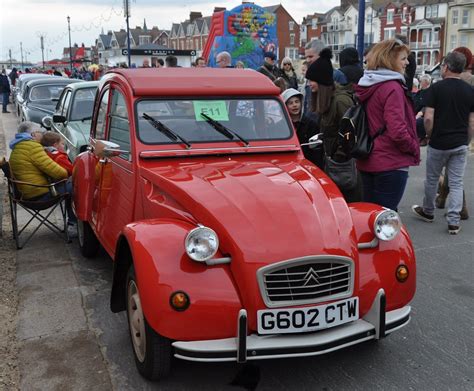
[{"label": "pale wheel disc of the red car's visible front wheel", "polygon": [[128,324],[132,335],[133,349],[138,360],[143,362],[146,354],[145,318],[143,317],[142,305],[135,281],[129,282],[127,293]]}]

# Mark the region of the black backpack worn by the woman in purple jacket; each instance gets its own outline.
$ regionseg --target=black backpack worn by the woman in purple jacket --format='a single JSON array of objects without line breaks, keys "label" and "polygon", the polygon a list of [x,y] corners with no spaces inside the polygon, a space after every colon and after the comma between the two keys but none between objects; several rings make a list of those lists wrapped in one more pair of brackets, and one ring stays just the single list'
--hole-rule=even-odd
[{"label": "black backpack worn by the woman in purple jacket", "polygon": [[365,105],[356,100],[342,116],[339,144],[344,152],[354,159],[367,159],[374,147],[374,140],[384,131],[385,127],[379,129],[374,136],[370,136]]}]

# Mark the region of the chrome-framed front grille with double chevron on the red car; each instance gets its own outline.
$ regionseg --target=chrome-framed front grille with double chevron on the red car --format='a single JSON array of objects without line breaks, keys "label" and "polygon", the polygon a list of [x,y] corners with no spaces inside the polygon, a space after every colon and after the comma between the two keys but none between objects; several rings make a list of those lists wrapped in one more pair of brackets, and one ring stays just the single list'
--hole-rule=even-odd
[{"label": "chrome-framed front grille with double chevron on the red car", "polygon": [[270,307],[315,303],[352,294],[353,262],[343,257],[291,260],[259,272],[260,290]]}]

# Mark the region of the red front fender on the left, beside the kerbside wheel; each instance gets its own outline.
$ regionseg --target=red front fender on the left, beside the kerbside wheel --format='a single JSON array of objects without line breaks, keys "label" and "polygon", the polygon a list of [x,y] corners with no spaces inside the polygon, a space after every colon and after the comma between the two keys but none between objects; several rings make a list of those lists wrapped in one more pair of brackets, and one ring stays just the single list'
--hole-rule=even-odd
[{"label": "red front fender on the left, beside the kerbside wheel", "polygon": [[[126,226],[140,300],[148,323],[159,334],[179,340],[236,335],[242,308],[228,265],[192,261],[184,250],[194,225],[176,220],[146,220]],[[184,291],[190,306],[178,312],[170,295]]]}]

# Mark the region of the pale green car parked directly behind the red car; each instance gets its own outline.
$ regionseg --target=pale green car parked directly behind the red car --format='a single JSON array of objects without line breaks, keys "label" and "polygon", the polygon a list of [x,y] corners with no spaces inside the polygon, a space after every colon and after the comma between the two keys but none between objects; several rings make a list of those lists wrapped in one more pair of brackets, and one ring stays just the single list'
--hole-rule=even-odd
[{"label": "pale green car parked directly behind the red car", "polygon": [[44,127],[64,138],[71,161],[87,147],[98,85],[98,81],[69,84],[59,97],[53,116],[45,116],[42,120]]}]

